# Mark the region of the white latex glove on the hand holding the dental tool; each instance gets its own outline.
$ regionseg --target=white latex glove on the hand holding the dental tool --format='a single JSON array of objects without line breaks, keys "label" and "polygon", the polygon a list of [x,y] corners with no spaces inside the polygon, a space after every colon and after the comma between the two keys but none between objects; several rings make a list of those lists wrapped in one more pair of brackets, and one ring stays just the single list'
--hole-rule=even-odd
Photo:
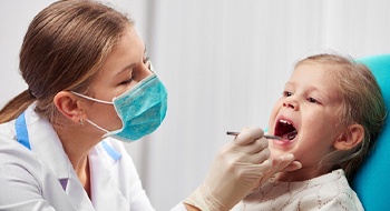
[{"label": "white latex glove on the hand holding the dental tool", "polygon": [[282,159],[270,158],[269,141],[260,128],[245,128],[234,141],[225,144],[214,158],[203,184],[184,203],[204,211],[232,209],[253,189],[293,160],[292,154]]}]

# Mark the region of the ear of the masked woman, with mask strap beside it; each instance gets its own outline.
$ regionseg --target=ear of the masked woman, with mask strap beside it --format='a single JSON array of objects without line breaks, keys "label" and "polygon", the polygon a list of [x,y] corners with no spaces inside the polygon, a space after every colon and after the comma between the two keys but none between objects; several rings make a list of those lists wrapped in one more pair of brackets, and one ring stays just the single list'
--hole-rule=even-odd
[{"label": "ear of the masked woman, with mask strap beside it", "polygon": [[78,97],[69,91],[60,91],[55,96],[53,103],[67,119],[81,124],[85,120],[85,112],[80,107],[82,103]]}]

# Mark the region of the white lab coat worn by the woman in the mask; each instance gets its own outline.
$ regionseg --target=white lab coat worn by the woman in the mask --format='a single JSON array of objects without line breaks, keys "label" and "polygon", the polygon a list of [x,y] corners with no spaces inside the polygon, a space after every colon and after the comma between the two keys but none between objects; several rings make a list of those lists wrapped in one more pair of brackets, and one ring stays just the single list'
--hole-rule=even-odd
[{"label": "white lab coat worn by the woman in the mask", "polygon": [[25,112],[31,150],[17,141],[14,120],[0,124],[0,210],[154,210],[131,158],[110,138],[89,152],[89,199],[52,125],[33,108]]}]

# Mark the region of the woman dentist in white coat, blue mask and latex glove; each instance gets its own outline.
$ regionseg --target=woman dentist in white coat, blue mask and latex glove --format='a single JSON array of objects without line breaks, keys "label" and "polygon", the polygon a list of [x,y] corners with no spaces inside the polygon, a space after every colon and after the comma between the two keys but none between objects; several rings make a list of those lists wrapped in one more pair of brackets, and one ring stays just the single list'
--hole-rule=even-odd
[{"label": "woman dentist in white coat, blue mask and latex glove", "polygon": [[[58,1],[20,50],[28,89],[0,111],[0,210],[154,210],[123,142],[156,130],[167,92],[134,22],[105,4]],[[173,210],[230,210],[293,155],[269,159],[259,128],[216,154],[204,182]]]}]

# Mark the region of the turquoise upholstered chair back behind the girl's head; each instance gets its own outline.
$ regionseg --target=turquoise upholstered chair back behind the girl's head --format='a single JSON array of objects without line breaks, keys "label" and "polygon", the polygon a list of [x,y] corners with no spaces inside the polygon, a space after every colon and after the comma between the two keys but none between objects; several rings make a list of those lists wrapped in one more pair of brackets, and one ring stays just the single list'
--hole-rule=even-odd
[{"label": "turquoise upholstered chair back behind the girl's head", "polygon": [[388,118],[352,188],[365,210],[390,210],[390,54],[360,58],[357,61],[365,64],[374,74],[384,98]]}]

